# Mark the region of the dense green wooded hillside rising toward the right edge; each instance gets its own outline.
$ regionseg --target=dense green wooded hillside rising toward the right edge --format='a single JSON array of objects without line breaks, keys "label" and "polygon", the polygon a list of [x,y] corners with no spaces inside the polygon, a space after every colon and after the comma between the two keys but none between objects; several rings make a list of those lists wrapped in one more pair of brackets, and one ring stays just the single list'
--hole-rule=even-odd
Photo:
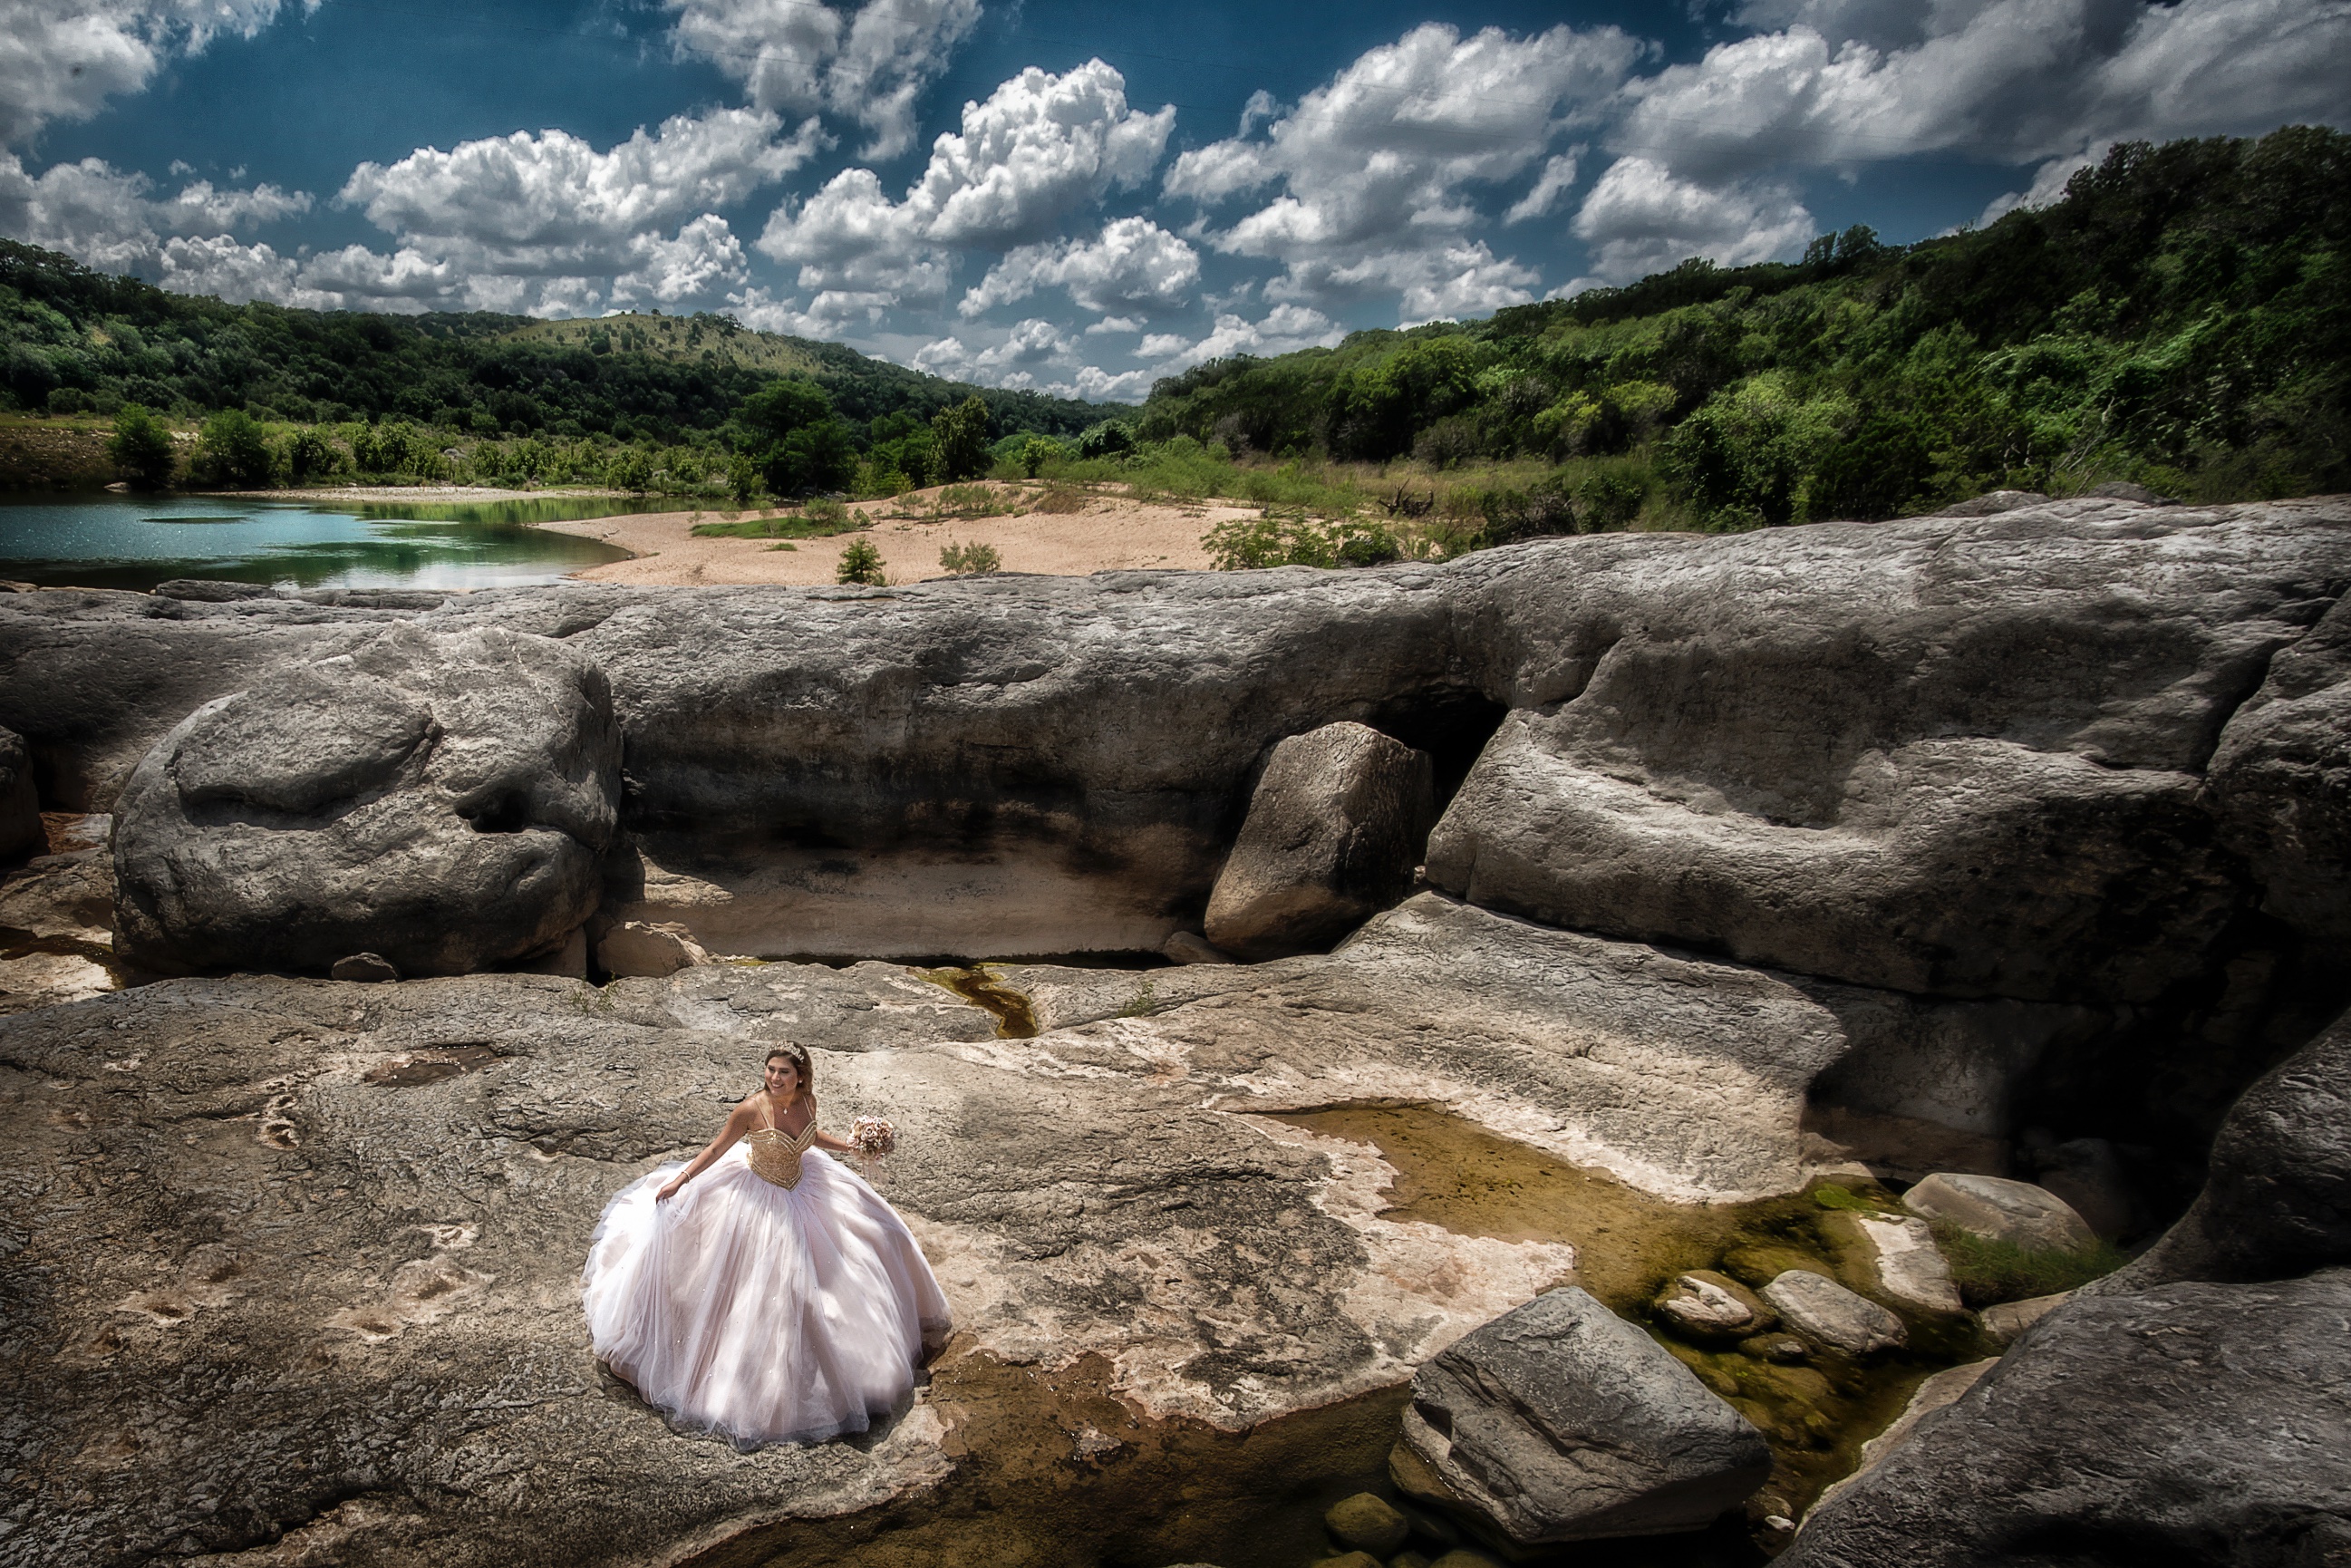
[{"label": "dense green wooded hillside rising toward the right edge", "polygon": [[[1136,435],[1514,465],[1488,541],[1897,517],[1996,487],[2351,489],[2351,136],[2123,143],[2064,197],[1909,247],[1686,261],[1483,322],[1213,360]],[[1547,473],[1540,473],[1547,470]]]}]

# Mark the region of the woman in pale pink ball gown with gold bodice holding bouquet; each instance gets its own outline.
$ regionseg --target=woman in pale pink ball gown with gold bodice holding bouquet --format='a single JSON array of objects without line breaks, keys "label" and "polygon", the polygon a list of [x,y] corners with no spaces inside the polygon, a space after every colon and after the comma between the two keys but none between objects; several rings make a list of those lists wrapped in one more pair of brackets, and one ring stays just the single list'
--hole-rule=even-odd
[{"label": "woman in pale pink ball gown with gold bodice holding bouquet", "polygon": [[820,1443],[903,1406],[947,1335],[947,1300],[905,1220],[825,1150],[809,1053],[689,1164],[604,1206],[588,1248],[595,1354],[675,1425],[738,1446]]}]

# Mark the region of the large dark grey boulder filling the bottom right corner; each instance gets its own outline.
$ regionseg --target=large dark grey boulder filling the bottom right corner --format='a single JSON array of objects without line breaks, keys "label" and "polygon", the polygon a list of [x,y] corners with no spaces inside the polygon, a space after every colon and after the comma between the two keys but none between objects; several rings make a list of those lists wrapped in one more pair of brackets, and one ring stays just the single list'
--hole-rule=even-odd
[{"label": "large dark grey boulder filling the bottom right corner", "polygon": [[2335,1563],[2351,1274],[2059,1307],[1824,1500],[1787,1568]]}]

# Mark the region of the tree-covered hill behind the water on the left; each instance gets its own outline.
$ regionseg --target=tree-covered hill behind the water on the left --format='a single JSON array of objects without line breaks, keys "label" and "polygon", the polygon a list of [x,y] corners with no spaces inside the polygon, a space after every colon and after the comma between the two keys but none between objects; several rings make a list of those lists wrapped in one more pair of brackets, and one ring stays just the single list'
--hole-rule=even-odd
[{"label": "tree-covered hill behind the water on the left", "polygon": [[[1074,437],[1124,411],[943,381],[719,315],[536,322],[228,306],[0,240],[0,411],[113,416],[136,402],[181,425],[242,411],[280,433],[343,430],[336,449],[360,473],[376,470],[355,456],[367,442],[355,447],[350,430],[390,423],[407,435],[386,451],[531,442],[529,477],[592,477],[585,470],[602,473],[616,447],[639,449],[656,473],[677,473],[665,454],[684,449],[703,454],[701,468],[724,468],[729,421],[781,376],[823,388],[860,449],[903,440],[969,397],[987,404],[997,437]],[[40,447],[19,440],[12,451]]]}]

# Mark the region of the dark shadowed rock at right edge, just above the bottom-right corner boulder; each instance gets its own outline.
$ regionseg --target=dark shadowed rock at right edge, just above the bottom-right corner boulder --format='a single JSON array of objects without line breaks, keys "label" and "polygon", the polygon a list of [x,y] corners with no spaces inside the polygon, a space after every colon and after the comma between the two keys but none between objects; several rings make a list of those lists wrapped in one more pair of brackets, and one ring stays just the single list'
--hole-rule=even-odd
[{"label": "dark shadowed rock at right edge, just above the bottom-right corner boulder", "polygon": [[2262,1074],[2219,1126],[2203,1192],[2144,1255],[2083,1286],[2283,1279],[2351,1262],[2351,1013]]}]

